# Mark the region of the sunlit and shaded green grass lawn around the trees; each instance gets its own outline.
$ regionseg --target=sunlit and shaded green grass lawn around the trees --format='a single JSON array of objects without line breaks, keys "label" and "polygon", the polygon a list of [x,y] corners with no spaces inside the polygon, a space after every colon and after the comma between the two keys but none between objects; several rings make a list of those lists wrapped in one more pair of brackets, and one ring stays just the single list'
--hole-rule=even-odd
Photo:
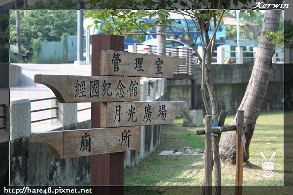
[{"label": "sunlit and shaded green grass lawn around the trees", "polygon": [[[225,126],[228,126],[234,115],[228,115]],[[284,130],[283,111],[262,112],[257,120],[250,144],[249,161],[259,168],[244,165],[243,185],[281,186],[284,184]],[[183,119],[175,119],[174,125],[162,126],[161,144],[148,158],[124,171],[125,186],[201,186],[204,176],[204,155],[169,155],[158,156],[164,150],[183,149],[190,146],[192,150],[204,150],[204,136],[196,135],[201,127],[182,127]],[[224,132],[225,133],[225,132]],[[224,136],[222,133],[222,137]],[[273,151],[277,153],[272,160],[275,164],[274,177],[262,177],[260,157],[263,152],[269,160]],[[222,185],[235,185],[235,165],[221,164]],[[213,175],[214,183],[214,175]]]}]

